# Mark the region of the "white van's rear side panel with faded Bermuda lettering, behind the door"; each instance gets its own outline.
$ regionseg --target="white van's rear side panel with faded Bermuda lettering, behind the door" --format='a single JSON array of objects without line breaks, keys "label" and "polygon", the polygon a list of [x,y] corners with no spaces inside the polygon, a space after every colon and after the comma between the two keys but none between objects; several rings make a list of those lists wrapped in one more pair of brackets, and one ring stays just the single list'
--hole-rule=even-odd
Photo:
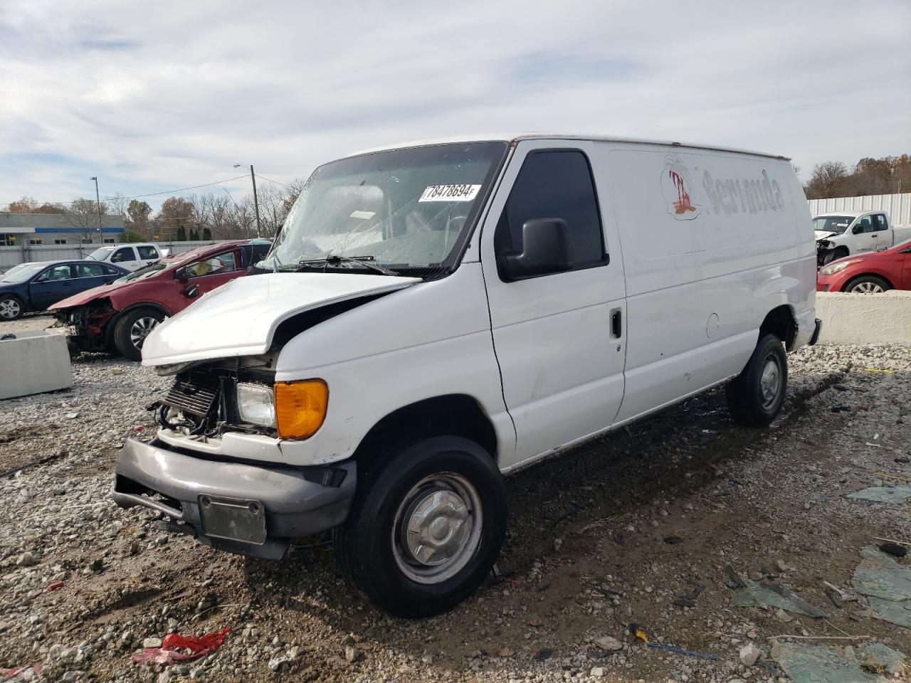
[{"label": "white van's rear side panel with faded Bermuda lettering, behind the door", "polygon": [[813,227],[786,160],[670,146],[597,147],[627,280],[626,392],[618,422],[739,373],[763,319],[779,305],[790,306],[802,329],[812,327]]}]

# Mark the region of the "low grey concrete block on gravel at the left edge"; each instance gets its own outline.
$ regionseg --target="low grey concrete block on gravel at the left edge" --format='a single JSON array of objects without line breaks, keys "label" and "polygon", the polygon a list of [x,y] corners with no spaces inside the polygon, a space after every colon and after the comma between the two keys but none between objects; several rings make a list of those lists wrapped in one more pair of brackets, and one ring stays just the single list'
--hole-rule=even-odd
[{"label": "low grey concrete block on gravel at the left edge", "polygon": [[46,331],[13,332],[0,342],[0,399],[73,386],[67,338]]}]

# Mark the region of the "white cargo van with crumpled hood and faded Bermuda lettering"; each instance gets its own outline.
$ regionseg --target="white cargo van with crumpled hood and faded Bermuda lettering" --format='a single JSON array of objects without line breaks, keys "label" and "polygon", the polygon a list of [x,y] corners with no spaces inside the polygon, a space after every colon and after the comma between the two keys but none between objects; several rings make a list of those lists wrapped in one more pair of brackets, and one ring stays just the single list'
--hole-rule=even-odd
[{"label": "white cargo van with crumpled hood and faded Bermuda lettering", "polygon": [[788,159],[710,146],[353,155],[313,173],[256,270],[148,336],[143,364],[176,378],[114,498],[248,556],[333,528],[347,576],[408,617],[490,571],[504,474],[722,382],[766,425],[785,352],[819,333]]}]

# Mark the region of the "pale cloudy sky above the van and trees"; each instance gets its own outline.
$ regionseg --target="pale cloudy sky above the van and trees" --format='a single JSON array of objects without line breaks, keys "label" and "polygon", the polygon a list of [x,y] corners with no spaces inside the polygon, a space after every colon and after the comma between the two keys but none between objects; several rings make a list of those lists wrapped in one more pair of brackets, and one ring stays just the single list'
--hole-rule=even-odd
[{"label": "pale cloudy sky above the van and trees", "polygon": [[0,0],[0,205],[515,130],[911,152],[911,3]]}]

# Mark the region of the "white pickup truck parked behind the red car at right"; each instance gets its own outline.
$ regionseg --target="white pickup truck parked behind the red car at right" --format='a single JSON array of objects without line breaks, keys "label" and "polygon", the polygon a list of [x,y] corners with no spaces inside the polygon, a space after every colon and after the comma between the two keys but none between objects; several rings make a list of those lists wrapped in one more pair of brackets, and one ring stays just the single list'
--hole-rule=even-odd
[{"label": "white pickup truck parked behind the red car at right", "polygon": [[894,228],[885,211],[839,211],[813,219],[819,265],[865,251],[887,250],[911,239],[911,227]]}]

